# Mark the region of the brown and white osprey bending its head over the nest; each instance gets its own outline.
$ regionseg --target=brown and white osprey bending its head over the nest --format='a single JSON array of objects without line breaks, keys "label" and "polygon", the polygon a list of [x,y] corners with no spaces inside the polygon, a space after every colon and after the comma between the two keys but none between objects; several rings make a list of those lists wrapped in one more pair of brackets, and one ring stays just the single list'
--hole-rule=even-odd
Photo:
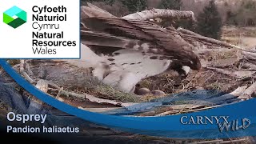
[{"label": "brown and white osprey bending its head over the nest", "polygon": [[95,77],[125,92],[134,92],[143,78],[166,70],[187,74],[187,68],[201,68],[191,46],[174,31],[153,22],[116,18],[91,4],[82,7],[81,40],[80,61],[92,63]]}]

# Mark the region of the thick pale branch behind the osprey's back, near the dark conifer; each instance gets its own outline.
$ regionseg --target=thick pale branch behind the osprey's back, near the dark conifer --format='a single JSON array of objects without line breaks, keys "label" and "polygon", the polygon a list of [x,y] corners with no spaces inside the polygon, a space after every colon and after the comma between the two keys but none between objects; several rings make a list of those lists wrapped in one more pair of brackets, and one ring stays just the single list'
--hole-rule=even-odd
[{"label": "thick pale branch behind the osprey's back, near the dark conifer", "polygon": [[170,18],[170,19],[191,19],[196,22],[194,13],[192,11],[181,11],[181,10],[162,10],[162,9],[151,9],[144,10],[142,12],[126,15],[122,18],[128,20],[142,20],[146,21],[154,18]]}]

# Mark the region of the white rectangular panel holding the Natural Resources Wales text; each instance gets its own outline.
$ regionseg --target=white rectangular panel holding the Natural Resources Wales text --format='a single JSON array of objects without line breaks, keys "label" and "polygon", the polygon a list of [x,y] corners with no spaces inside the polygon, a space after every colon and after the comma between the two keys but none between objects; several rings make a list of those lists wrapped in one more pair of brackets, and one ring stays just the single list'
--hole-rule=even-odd
[{"label": "white rectangular panel holding the Natural Resources Wales text", "polygon": [[[26,11],[27,15],[26,23],[16,29],[3,22],[3,13],[13,6]],[[1,0],[0,12],[0,58],[80,58],[79,0]],[[41,21],[47,20],[44,15],[62,18]],[[45,29],[39,30],[40,26]],[[45,38],[48,34],[55,38]],[[61,44],[51,46],[53,42]],[[67,42],[70,46],[65,45]]]}]

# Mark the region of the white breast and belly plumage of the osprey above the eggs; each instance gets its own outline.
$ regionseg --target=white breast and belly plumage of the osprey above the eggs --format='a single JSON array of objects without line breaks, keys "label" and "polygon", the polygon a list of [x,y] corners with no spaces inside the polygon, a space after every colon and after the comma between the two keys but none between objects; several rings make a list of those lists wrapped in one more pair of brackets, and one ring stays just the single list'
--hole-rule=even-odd
[{"label": "white breast and belly plumage of the osprey above the eggs", "polygon": [[[135,85],[143,78],[161,74],[170,65],[170,60],[152,60],[151,55],[142,55],[134,50],[118,50],[116,52],[120,54],[110,57],[98,56],[83,44],[81,49],[81,59],[69,59],[66,62],[83,68],[94,68],[94,77],[125,92],[133,92]],[[109,58],[114,58],[115,65],[110,65],[112,62]]]}]

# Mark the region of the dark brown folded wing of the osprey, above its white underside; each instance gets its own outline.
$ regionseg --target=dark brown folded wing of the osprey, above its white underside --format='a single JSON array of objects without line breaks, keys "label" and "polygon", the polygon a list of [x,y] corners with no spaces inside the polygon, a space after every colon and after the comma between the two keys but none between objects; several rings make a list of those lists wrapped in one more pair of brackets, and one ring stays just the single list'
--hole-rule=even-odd
[{"label": "dark brown folded wing of the osprey, above its white underside", "polygon": [[201,68],[199,58],[189,44],[173,31],[152,22],[122,18],[82,18],[81,34],[82,42],[99,53],[130,49],[142,55],[153,54],[150,57],[152,60],[170,60],[172,65],[190,66],[193,70]]}]

